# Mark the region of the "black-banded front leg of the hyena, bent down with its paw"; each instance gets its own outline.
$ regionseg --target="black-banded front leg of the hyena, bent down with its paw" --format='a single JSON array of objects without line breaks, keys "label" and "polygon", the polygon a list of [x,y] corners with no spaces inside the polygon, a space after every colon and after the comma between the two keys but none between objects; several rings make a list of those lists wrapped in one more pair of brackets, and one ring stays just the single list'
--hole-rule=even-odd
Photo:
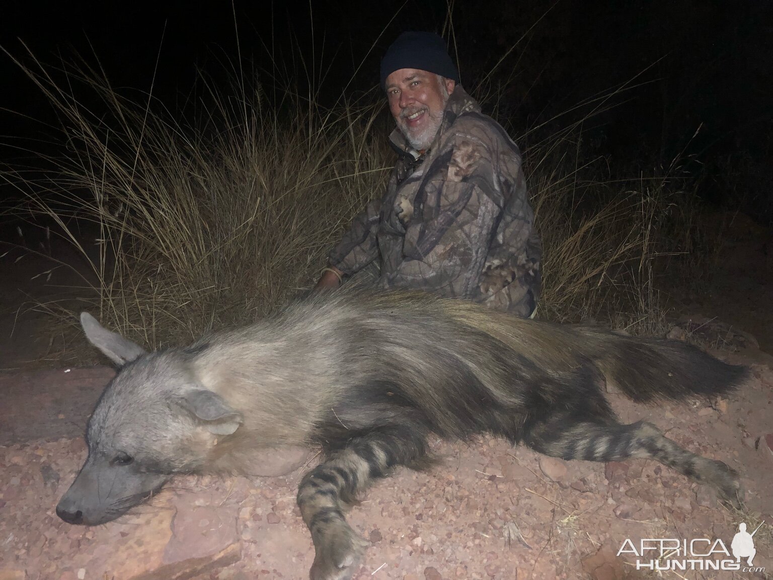
[{"label": "black-banded front leg of the hyena, bent down with its paw", "polygon": [[346,522],[346,503],[397,466],[414,466],[427,457],[421,427],[383,427],[349,438],[343,449],[307,473],[298,487],[298,507],[312,534],[312,580],[349,580],[366,548]]}]

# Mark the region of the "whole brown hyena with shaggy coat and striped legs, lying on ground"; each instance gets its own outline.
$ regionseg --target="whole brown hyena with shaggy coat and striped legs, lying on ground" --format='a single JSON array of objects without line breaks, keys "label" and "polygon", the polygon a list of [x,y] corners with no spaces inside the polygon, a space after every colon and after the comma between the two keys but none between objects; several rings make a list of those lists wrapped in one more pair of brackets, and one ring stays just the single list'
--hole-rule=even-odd
[{"label": "whole brown hyena with shaggy coat and striped legs, lying on ground", "polygon": [[[622,425],[604,398],[604,381],[657,401],[724,394],[744,380],[743,367],[677,341],[362,288],[322,292],[160,353],[90,316],[82,322],[121,369],[90,418],[87,462],[57,507],[73,524],[118,517],[175,473],[261,474],[261,450],[321,449],[298,489],[315,546],[311,578],[345,580],[366,545],[346,523],[347,505],[398,466],[429,464],[430,434],[482,432],[563,459],[655,459],[741,500],[723,462],[649,423]],[[115,491],[97,501],[94,486]]]}]

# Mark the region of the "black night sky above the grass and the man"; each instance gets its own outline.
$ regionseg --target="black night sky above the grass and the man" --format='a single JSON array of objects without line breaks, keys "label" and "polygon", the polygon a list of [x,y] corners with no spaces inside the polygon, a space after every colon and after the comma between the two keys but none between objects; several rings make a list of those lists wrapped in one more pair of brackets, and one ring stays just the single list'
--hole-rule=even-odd
[{"label": "black night sky above the grass and the man", "polygon": [[[291,61],[290,43],[308,58],[313,29],[317,60],[324,49],[330,67],[324,94],[333,98],[371,46],[350,90],[376,84],[380,55],[400,30],[440,32],[447,10],[447,2],[436,0],[6,1],[0,46],[24,56],[22,39],[47,63],[72,60],[73,51],[91,61],[96,55],[114,86],[140,90],[150,88],[158,59],[154,91],[174,108],[191,87],[196,64],[216,75],[222,71],[216,59],[237,60],[234,19],[242,56],[258,67],[269,67],[271,46],[278,62]],[[492,77],[508,83],[500,113],[516,137],[521,128],[646,69],[637,81],[647,84],[618,97],[613,111],[594,120],[601,154],[620,162],[664,162],[703,124],[691,146],[707,162],[730,154],[773,165],[769,0],[559,0],[552,8],[540,0],[457,0],[453,23],[468,90],[523,36]],[[0,107],[46,118],[46,102],[5,55],[0,74]],[[30,130],[9,114],[0,113],[0,123],[4,135]]]}]

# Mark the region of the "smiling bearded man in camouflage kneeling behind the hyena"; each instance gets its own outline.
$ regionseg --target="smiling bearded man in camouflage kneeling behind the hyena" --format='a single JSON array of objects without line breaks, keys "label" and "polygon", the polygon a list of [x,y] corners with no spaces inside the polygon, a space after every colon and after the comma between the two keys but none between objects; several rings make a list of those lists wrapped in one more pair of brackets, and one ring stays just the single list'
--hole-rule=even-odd
[{"label": "smiling bearded man in camouflage kneeling behind the hyena", "polygon": [[373,275],[533,316],[540,240],[519,149],[459,83],[440,36],[404,32],[381,62],[399,159],[329,254],[317,288]]}]

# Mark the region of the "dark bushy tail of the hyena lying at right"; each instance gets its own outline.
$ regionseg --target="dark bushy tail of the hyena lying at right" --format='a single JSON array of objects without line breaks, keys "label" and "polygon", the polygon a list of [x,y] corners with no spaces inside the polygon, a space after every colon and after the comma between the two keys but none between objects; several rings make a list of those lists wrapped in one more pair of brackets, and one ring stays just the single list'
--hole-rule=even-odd
[{"label": "dark bushy tail of the hyena lying at right", "polygon": [[582,329],[606,380],[637,402],[680,401],[727,394],[746,380],[747,367],[724,363],[679,340],[621,336]]}]

